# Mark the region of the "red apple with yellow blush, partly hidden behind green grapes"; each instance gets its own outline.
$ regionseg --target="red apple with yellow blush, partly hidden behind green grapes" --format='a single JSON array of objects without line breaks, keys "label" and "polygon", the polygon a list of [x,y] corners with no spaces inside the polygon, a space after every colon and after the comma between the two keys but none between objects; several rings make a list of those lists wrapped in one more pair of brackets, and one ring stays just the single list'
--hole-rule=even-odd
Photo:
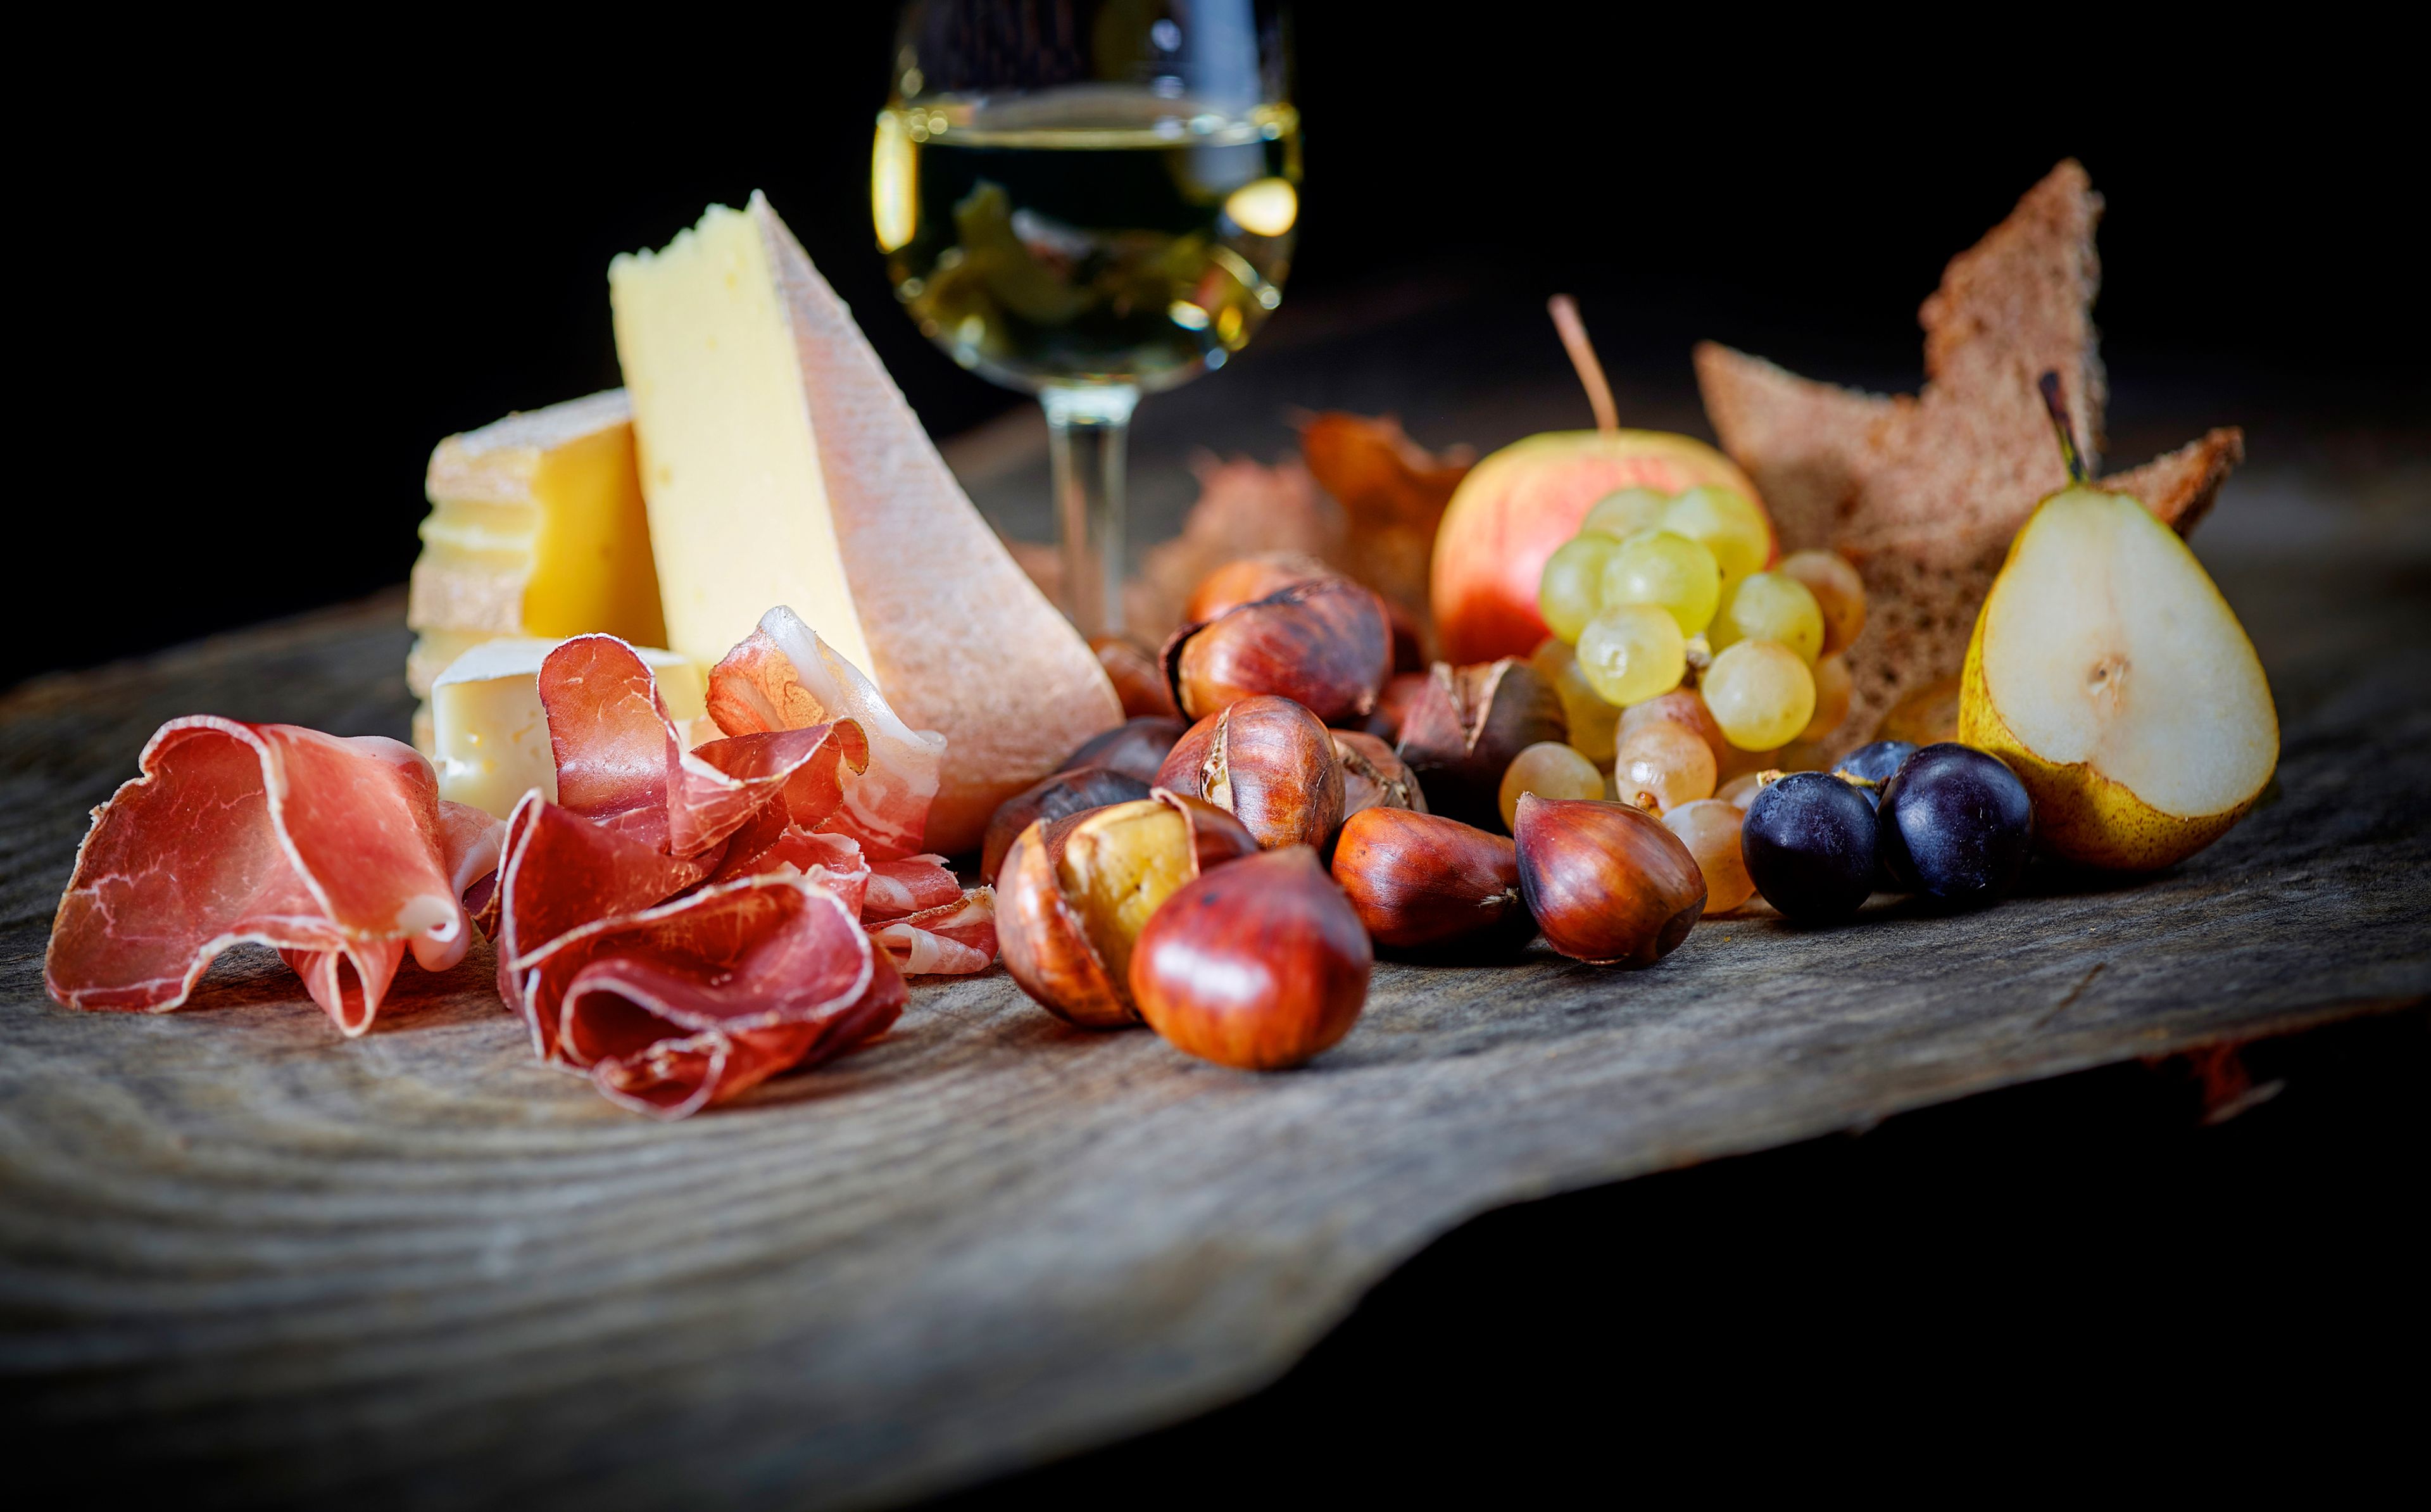
[{"label": "red apple with yellow blush, partly hidden behind green grapes", "polygon": [[1578,535],[1595,501],[1614,489],[1680,493],[1697,484],[1736,489],[1762,506],[1728,457],[1668,430],[1549,430],[1478,462],[1434,535],[1434,630],[1444,659],[1466,666],[1534,651],[1546,637],[1536,613],[1544,559]]}]

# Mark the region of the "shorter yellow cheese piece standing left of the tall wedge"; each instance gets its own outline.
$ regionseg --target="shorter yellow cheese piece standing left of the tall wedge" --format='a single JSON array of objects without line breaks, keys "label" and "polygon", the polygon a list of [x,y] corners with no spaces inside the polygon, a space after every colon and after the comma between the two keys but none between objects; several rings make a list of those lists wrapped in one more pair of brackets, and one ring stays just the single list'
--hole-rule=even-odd
[{"label": "shorter yellow cheese piece standing left of the tall wedge", "polygon": [[[430,452],[423,491],[430,515],[406,600],[416,698],[498,637],[666,639],[622,389],[450,435]],[[433,754],[428,705],[413,737]]]}]

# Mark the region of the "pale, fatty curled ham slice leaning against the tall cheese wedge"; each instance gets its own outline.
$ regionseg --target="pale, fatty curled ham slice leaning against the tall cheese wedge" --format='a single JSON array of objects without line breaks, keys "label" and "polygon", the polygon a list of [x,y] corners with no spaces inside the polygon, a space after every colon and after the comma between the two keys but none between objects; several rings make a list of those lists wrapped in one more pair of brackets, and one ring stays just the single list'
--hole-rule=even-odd
[{"label": "pale, fatty curled ham slice leaning against the tall cheese wedge", "polygon": [[707,707],[727,734],[861,724],[870,739],[868,768],[846,773],[844,807],[824,829],[858,839],[873,863],[919,851],[946,737],[904,724],[878,686],[790,608],[761,615],[758,630],[710,671]]}]

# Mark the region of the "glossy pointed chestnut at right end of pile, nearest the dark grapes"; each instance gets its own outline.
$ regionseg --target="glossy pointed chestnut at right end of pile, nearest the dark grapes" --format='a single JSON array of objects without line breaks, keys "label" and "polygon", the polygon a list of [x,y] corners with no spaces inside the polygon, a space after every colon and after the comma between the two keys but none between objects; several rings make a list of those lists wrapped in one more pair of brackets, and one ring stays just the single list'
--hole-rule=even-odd
[{"label": "glossy pointed chestnut at right end of pile, nearest the dark grapes", "polygon": [[1519,897],[1563,955],[1653,965],[1704,914],[1704,870],[1660,819],[1592,797],[1519,797]]}]

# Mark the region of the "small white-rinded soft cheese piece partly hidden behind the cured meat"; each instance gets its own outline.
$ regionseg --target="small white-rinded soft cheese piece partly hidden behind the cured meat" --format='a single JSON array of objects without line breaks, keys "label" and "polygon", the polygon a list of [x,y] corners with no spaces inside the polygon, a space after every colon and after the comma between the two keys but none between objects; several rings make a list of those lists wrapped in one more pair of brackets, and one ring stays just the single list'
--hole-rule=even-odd
[{"label": "small white-rinded soft cheese piece partly hidden behind the cured meat", "polygon": [[[557,756],[540,707],[540,664],[562,642],[506,637],[457,656],[430,686],[430,754],[440,797],[506,819],[540,788],[557,800]],[[707,688],[700,668],[673,651],[642,649],[676,727],[700,720]]]}]

